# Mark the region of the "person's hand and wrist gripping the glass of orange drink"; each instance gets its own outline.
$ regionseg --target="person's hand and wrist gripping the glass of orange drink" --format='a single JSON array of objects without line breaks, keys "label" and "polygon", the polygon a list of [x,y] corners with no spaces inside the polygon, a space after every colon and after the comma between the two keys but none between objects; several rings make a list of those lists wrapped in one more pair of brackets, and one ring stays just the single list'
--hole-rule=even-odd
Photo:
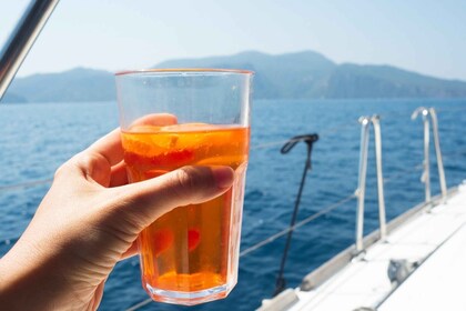
[{"label": "person's hand and wrist gripping the glass of orange drink", "polygon": [[0,260],[4,310],[95,310],[115,263],[170,210],[225,192],[226,167],[185,167],[128,184],[115,130],[58,169],[17,244]]}]

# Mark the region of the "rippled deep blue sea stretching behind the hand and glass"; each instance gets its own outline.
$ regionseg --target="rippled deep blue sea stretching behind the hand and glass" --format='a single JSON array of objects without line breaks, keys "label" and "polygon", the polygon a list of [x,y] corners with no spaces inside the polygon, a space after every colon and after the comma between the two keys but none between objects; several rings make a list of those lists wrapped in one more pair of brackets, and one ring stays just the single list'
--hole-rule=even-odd
[{"label": "rippled deep blue sea stretching behind the hand and glass", "polygon": [[[447,185],[466,179],[466,100],[256,100],[247,170],[242,251],[287,228],[304,160],[305,143],[281,154],[286,140],[318,133],[298,211],[303,220],[352,195],[357,187],[361,116],[381,116],[387,218],[424,200],[421,183],[423,126],[417,107],[434,107],[439,122]],[[114,102],[0,106],[0,255],[27,227],[50,187],[54,170],[118,127]],[[373,137],[373,133],[371,133]],[[433,194],[439,193],[430,146]],[[20,185],[18,185],[20,184]],[[285,267],[287,287],[354,243],[356,200],[298,228]],[[365,233],[378,225],[374,143],[369,143]],[[239,283],[229,298],[183,308],[150,303],[140,310],[254,310],[274,291],[284,248],[281,238],[241,258]],[[138,258],[118,264],[100,310],[125,310],[148,299]]]}]

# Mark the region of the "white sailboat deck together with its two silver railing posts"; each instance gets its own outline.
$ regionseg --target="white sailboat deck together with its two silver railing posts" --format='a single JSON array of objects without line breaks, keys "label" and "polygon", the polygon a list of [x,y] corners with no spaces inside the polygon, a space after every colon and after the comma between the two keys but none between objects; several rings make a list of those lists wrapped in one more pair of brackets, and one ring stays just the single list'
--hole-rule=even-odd
[{"label": "white sailboat deck together with its two silver railing posts", "polygon": [[[425,202],[385,224],[381,136],[378,122],[363,118],[356,240],[305,275],[296,289],[286,289],[262,302],[271,310],[465,310],[466,183],[446,188],[437,118],[419,108],[424,119]],[[429,118],[430,117],[430,118]],[[368,124],[374,122],[377,158],[379,229],[363,238]],[[442,194],[430,197],[429,121],[433,122]],[[378,132],[378,134],[377,134]]]}]

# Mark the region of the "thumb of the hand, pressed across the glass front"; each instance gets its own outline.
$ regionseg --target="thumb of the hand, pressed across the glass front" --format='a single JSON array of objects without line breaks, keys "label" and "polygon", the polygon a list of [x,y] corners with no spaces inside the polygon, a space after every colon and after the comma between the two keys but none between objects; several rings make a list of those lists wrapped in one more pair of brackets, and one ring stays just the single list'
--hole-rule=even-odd
[{"label": "thumb of the hand, pressed across the glass front", "polygon": [[183,167],[161,177],[118,188],[112,204],[118,218],[141,231],[176,207],[211,200],[232,185],[230,167]]}]

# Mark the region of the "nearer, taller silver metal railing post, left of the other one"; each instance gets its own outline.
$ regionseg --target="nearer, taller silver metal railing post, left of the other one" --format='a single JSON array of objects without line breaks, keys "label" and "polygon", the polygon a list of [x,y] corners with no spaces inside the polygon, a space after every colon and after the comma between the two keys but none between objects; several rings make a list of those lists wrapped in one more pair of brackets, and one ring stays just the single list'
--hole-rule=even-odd
[{"label": "nearer, taller silver metal railing post, left of the other one", "polygon": [[364,251],[363,235],[364,235],[364,200],[366,192],[366,175],[367,175],[367,153],[369,142],[369,127],[373,124],[374,141],[375,141],[375,158],[377,169],[377,193],[378,193],[378,223],[379,223],[379,239],[386,237],[386,217],[385,217],[385,199],[384,199],[384,177],[382,173],[382,133],[381,133],[381,118],[377,114],[372,117],[361,117],[361,152],[359,152],[359,175],[355,195],[357,198],[356,212],[356,253]]}]

